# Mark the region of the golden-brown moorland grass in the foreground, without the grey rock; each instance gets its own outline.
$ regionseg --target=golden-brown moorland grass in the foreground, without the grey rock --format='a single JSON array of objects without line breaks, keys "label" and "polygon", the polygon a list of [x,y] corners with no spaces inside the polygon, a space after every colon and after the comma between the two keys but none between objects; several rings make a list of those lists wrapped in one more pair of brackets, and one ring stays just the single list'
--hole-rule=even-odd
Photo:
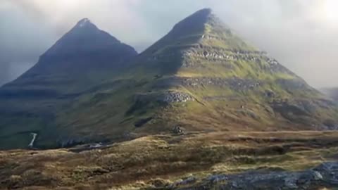
[{"label": "golden-brown moorland grass in the foreground, without the grey rock", "polygon": [[191,173],[303,170],[338,158],[338,132],[168,134],[75,150],[0,151],[0,189],[146,189]]}]

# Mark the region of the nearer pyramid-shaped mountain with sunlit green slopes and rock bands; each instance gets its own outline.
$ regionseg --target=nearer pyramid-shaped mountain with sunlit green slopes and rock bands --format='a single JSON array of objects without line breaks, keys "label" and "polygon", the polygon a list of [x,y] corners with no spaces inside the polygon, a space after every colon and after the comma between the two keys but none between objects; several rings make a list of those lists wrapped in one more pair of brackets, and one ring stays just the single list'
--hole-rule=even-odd
[{"label": "nearer pyramid-shaped mountain with sunlit green slopes and rock bands", "polygon": [[[209,9],[58,118],[64,144],[187,131],[335,129],[337,107]],[[94,126],[94,127],[93,127]],[[41,137],[42,138],[42,137]],[[69,141],[69,139],[71,139]]]}]

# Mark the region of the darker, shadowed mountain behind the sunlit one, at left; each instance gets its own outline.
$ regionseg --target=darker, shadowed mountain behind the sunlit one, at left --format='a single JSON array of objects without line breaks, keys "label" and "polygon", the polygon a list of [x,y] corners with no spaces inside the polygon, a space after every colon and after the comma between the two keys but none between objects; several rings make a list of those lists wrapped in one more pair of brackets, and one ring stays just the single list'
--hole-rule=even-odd
[{"label": "darker, shadowed mountain behind the sunlit one, at left", "polygon": [[87,18],[80,20],[34,67],[1,87],[1,145],[27,146],[30,132],[48,130],[68,102],[118,72],[136,55],[131,46]]}]

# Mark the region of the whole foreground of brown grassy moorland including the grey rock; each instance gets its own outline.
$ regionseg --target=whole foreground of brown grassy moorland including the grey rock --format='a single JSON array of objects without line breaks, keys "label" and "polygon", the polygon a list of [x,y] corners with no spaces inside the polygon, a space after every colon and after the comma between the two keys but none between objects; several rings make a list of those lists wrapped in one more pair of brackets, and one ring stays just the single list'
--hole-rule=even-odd
[{"label": "whole foreground of brown grassy moorland including the grey rock", "polygon": [[0,189],[337,189],[338,132],[163,134],[0,152]]}]

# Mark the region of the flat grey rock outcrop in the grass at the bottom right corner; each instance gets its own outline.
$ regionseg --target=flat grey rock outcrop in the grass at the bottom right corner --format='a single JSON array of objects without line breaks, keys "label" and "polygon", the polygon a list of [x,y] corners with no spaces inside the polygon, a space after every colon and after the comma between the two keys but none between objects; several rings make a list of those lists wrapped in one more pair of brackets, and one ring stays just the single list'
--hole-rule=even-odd
[{"label": "flat grey rock outcrop in the grass at the bottom right corner", "polygon": [[[251,171],[234,175],[211,175],[205,179],[189,177],[170,185],[168,189],[207,190],[207,189],[318,189],[338,186],[338,163],[323,163],[311,170],[301,172]],[[182,182],[184,182],[184,187]],[[175,186],[175,188],[173,188]],[[180,187],[181,186],[181,187]]]}]

